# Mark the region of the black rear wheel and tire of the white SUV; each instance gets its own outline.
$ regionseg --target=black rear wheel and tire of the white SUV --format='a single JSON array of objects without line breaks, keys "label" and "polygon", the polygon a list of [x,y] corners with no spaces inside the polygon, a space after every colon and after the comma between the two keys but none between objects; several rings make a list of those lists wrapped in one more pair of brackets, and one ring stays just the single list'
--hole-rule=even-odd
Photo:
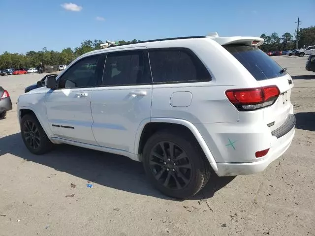
[{"label": "black rear wheel and tire of the white SUV", "polygon": [[196,140],[178,130],[158,131],[148,139],[143,150],[143,166],[150,182],[160,192],[178,199],[197,194],[208,182],[212,170]]}]

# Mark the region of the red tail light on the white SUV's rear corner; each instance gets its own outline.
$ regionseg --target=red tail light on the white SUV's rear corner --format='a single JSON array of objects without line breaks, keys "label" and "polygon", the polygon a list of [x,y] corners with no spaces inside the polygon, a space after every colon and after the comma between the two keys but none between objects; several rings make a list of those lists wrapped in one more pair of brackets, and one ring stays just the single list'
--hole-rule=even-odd
[{"label": "red tail light on the white SUV's rear corner", "polygon": [[239,111],[254,111],[274,104],[280,95],[280,90],[277,86],[231,89],[226,90],[225,95]]}]

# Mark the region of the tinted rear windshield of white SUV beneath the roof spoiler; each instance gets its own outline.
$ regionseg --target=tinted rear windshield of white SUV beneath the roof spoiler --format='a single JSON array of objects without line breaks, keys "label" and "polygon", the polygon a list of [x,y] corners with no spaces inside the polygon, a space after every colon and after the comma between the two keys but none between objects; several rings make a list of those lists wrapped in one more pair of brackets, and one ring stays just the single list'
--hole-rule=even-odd
[{"label": "tinted rear windshield of white SUV beneath the roof spoiler", "polygon": [[283,69],[276,61],[271,59],[259,48],[246,45],[225,45],[229,51],[257,80],[267,80],[284,76]]}]

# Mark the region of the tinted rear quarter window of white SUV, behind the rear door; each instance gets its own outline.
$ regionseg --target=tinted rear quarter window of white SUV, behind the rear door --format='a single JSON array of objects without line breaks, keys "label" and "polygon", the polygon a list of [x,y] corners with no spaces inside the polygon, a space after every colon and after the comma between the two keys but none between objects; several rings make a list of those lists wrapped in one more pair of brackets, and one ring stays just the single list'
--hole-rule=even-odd
[{"label": "tinted rear quarter window of white SUV, behind the rear door", "polygon": [[209,72],[202,62],[187,49],[158,49],[149,51],[153,81],[209,81]]}]

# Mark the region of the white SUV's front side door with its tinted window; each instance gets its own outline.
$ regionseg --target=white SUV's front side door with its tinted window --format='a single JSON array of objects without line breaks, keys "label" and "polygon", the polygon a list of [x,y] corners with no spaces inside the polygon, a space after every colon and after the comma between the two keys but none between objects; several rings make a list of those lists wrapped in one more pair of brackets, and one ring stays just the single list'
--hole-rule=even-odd
[{"label": "white SUV's front side door with its tinted window", "polygon": [[93,88],[101,84],[103,66],[103,55],[80,59],[58,78],[58,89],[47,93],[47,118],[55,137],[97,144],[90,100]]}]

